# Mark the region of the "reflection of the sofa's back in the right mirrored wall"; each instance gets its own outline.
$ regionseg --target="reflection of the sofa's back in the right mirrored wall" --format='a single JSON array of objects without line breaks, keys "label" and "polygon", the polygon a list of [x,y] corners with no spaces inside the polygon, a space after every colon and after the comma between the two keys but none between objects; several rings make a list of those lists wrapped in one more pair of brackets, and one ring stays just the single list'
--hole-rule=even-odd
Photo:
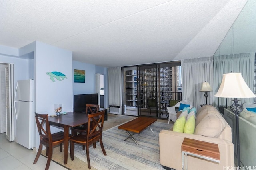
[{"label": "reflection of the sofa's back in the right mirrored wall", "polygon": [[[235,114],[228,108],[224,109],[223,117],[232,128],[232,138],[236,146]],[[244,111],[239,114],[239,142],[241,166],[256,168],[256,113],[244,109]]]}]

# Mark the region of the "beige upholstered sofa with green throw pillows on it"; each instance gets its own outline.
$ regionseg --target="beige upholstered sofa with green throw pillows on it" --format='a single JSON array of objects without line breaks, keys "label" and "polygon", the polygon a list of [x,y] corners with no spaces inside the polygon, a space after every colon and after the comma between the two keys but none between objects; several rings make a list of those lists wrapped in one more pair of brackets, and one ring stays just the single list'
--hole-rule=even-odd
[{"label": "beige upholstered sofa with green throw pillows on it", "polygon": [[216,143],[220,150],[220,163],[188,156],[188,170],[223,170],[224,167],[234,167],[231,127],[215,107],[205,105],[198,110],[194,134],[160,131],[160,163],[163,168],[182,169],[181,145],[185,137]]}]

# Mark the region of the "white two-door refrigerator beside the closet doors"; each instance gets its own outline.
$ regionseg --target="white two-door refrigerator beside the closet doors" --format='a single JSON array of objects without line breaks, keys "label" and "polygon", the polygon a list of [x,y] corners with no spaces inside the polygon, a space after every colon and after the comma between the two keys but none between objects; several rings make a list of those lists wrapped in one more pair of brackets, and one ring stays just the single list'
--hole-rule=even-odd
[{"label": "white two-door refrigerator beside the closet doors", "polygon": [[31,149],[33,146],[33,80],[17,81],[14,97],[14,112],[16,115],[16,128],[14,141]]}]

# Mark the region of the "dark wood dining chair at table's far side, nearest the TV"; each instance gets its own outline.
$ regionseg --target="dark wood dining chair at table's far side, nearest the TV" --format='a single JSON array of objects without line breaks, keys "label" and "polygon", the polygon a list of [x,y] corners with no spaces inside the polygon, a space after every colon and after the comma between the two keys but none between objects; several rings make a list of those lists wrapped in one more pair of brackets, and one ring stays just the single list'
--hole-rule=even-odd
[{"label": "dark wood dining chair at table's far side, nearest the TV", "polygon": [[[98,104],[86,104],[86,114],[88,113],[97,113],[99,110],[99,105]],[[76,126],[76,127],[72,127],[71,128],[71,133],[72,135],[77,135],[77,133],[82,133],[84,131],[87,130],[87,123],[80,125],[80,126]]]}]

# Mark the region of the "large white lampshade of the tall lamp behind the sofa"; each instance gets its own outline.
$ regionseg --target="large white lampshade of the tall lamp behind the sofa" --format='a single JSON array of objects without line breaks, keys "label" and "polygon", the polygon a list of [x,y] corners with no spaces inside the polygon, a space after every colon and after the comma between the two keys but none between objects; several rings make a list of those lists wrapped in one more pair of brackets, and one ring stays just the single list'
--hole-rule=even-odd
[{"label": "large white lampshade of the tall lamp behind the sofa", "polygon": [[254,98],[255,94],[247,86],[241,73],[223,74],[222,82],[215,97]]}]

